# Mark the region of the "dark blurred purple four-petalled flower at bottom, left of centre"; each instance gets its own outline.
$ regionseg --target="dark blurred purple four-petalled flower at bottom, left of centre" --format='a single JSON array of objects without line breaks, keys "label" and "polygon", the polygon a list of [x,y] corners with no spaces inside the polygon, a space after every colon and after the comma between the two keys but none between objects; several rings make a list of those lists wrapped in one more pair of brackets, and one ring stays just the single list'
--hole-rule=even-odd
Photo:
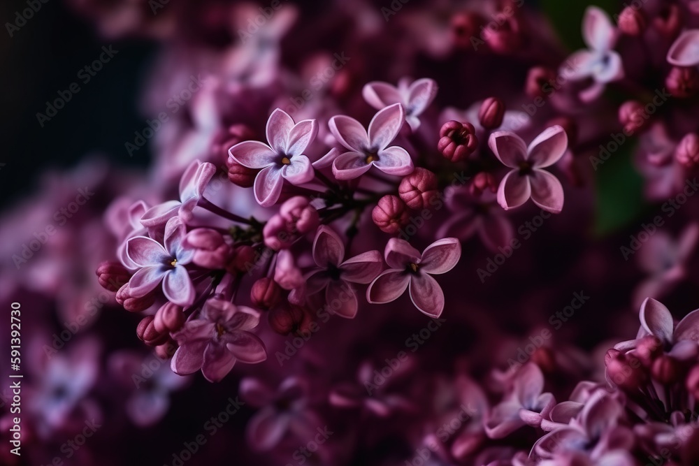
[{"label": "dark blurred purple four-petalled flower at bottom, left of centre", "polygon": [[308,407],[309,387],[304,379],[289,377],[274,391],[258,379],[240,381],[240,398],[261,408],[247,424],[246,437],[259,451],[273,449],[289,433],[309,439],[321,423]]}]

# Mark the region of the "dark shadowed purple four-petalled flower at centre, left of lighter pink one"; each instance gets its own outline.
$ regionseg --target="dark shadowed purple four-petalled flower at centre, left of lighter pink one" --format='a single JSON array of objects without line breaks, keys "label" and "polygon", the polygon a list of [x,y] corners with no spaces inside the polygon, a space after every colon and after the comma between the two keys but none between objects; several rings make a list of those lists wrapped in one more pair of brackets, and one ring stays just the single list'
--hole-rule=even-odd
[{"label": "dark shadowed purple four-petalled flower at centre, left of lighter pink one", "polygon": [[317,268],[305,275],[305,293],[312,295],[325,290],[329,308],[339,316],[354,319],[358,303],[352,283],[368,284],[379,275],[384,263],[378,251],[344,259],[345,245],[338,234],[329,226],[320,226],[313,241]]}]

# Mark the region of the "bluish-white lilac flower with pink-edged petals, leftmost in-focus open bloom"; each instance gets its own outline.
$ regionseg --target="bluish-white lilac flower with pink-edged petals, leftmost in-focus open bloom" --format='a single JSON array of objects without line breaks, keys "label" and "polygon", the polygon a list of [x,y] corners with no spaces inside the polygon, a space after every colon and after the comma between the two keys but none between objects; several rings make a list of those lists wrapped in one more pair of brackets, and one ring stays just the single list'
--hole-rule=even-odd
[{"label": "bluish-white lilac flower with pink-edged petals, leftmost in-focus open bloom", "polygon": [[172,303],[187,307],[194,302],[194,285],[185,268],[194,251],[183,247],[186,235],[185,224],[173,217],[165,226],[164,245],[146,236],[127,242],[127,255],[139,267],[129,280],[131,296],[141,298],[162,282],[163,293]]}]

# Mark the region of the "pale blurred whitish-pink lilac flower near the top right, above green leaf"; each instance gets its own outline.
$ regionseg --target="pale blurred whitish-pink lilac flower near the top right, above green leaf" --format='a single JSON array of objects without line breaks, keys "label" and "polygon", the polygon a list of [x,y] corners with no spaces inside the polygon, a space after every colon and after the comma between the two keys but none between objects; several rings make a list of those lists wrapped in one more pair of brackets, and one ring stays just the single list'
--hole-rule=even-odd
[{"label": "pale blurred whitish-pink lilac flower near the top right, above green leaf", "polygon": [[592,78],[594,84],[580,93],[584,102],[597,99],[607,82],[624,78],[621,56],[612,50],[617,43],[618,31],[600,8],[589,6],[582,20],[582,38],[588,50],[572,54],[563,66],[561,75],[571,80]]}]

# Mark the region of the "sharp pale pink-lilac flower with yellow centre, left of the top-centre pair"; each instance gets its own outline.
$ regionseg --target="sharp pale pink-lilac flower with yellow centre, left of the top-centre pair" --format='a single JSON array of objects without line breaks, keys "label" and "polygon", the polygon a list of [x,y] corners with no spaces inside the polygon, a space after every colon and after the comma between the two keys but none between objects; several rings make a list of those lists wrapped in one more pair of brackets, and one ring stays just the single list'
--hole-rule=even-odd
[{"label": "sharp pale pink-lilac flower with yellow centre, left of the top-centre pair", "polygon": [[253,187],[259,205],[269,207],[278,201],[284,179],[291,184],[304,184],[313,179],[313,167],[303,151],[317,133],[315,119],[294,124],[287,112],[277,108],[267,120],[266,135],[270,145],[248,140],[231,147],[229,154],[240,165],[262,169]]}]

